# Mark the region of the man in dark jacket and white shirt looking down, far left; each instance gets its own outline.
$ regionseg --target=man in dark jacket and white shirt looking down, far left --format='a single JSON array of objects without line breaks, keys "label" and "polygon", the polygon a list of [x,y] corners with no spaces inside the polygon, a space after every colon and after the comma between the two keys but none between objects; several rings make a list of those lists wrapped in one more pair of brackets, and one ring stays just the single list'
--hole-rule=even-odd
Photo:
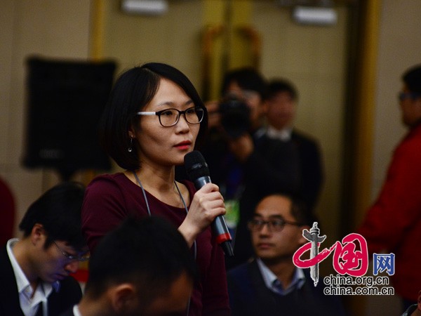
[{"label": "man in dark jacket and white shirt looking down, far left", "polygon": [[81,233],[85,188],[62,183],[39,197],[25,213],[22,239],[0,251],[0,315],[57,316],[81,299],[70,273],[88,259]]}]

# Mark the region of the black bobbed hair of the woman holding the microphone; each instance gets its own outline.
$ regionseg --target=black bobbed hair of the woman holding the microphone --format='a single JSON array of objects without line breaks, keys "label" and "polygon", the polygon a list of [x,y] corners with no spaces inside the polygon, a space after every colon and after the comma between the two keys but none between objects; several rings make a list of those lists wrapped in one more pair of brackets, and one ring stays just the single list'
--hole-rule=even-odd
[{"label": "black bobbed hair of the woman holding the microphone", "polygon": [[[140,167],[138,145],[135,142],[131,145],[128,131],[131,126],[138,128],[139,117],[136,113],[154,98],[162,78],[180,86],[192,98],[196,107],[203,108],[204,117],[195,147],[199,148],[204,143],[208,131],[208,112],[196,88],[185,74],[161,62],[133,67],[116,80],[99,123],[102,148],[123,169],[134,171]],[[128,152],[128,147],[133,147],[133,150]]]}]

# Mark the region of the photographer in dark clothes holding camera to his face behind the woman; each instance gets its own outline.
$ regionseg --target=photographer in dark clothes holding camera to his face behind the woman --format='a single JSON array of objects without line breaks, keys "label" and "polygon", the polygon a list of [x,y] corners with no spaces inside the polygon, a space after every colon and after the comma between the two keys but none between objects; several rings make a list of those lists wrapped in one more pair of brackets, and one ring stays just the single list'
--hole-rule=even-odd
[{"label": "photographer in dark clothes holding camera to his face behind the woman", "polygon": [[[227,223],[239,211],[233,268],[253,256],[247,222],[255,204],[271,193],[295,194],[300,180],[298,151],[293,142],[267,138],[263,127],[267,82],[250,67],[227,72],[222,100],[206,104],[210,134],[203,148],[213,183],[225,198]],[[234,216],[235,217],[235,216]]]}]

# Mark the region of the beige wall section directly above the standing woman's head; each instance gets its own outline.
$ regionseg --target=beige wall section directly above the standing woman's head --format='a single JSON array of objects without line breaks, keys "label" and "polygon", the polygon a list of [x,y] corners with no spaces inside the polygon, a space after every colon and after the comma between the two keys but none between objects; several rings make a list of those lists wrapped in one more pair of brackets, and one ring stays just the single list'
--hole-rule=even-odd
[{"label": "beige wall section directly above the standing woman's head", "polygon": [[119,3],[105,1],[103,57],[115,58],[119,70],[144,62],[168,62],[197,86],[201,74],[201,1],[169,1],[168,13],[147,17],[122,13]]}]

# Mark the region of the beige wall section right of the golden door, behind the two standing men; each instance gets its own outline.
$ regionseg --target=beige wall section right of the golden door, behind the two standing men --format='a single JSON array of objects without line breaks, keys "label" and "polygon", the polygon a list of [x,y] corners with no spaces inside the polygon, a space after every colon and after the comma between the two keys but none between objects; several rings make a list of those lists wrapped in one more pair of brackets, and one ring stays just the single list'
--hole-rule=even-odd
[{"label": "beige wall section right of the golden door, behind the two standing men", "polygon": [[262,34],[262,73],[284,77],[299,92],[296,127],[319,140],[326,181],[319,206],[323,234],[338,236],[345,111],[347,8],[338,7],[332,26],[298,25],[290,8],[256,2],[253,24]]}]

